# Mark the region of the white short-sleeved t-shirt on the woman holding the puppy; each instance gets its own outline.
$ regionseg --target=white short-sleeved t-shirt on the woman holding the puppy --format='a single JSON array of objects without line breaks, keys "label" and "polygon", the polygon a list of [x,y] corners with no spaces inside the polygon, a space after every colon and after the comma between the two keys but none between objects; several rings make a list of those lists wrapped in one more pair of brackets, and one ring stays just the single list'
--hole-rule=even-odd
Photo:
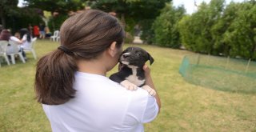
[{"label": "white short-sleeved t-shirt on the woman holding the puppy", "polygon": [[146,90],[126,90],[97,74],[75,74],[75,98],[62,105],[42,105],[54,132],[142,132],[158,114]]}]

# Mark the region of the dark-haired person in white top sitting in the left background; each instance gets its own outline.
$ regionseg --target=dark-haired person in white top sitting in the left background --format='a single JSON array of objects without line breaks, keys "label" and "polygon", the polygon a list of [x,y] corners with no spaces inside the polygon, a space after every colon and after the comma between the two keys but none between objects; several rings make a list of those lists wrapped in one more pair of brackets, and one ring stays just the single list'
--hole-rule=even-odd
[{"label": "dark-haired person in white top sitting in the left background", "polygon": [[29,32],[29,30],[27,30],[26,28],[23,28],[22,30],[20,30],[20,34],[21,34],[21,38],[22,38],[22,55],[26,60],[26,54],[23,51],[23,49],[29,48],[32,42],[32,36]]}]

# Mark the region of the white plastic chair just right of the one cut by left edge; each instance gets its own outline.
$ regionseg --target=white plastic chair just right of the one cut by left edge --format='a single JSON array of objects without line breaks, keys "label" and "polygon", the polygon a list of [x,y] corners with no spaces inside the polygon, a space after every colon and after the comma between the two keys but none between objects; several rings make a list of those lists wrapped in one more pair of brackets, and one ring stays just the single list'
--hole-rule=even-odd
[{"label": "white plastic chair just right of the one cut by left edge", "polygon": [[25,62],[25,59],[22,56],[22,51],[20,50],[20,46],[17,42],[9,41],[10,46],[7,46],[6,54],[10,55],[11,62],[15,64],[15,55],[18,54],[19,58],[22,60],[23,63]]}]

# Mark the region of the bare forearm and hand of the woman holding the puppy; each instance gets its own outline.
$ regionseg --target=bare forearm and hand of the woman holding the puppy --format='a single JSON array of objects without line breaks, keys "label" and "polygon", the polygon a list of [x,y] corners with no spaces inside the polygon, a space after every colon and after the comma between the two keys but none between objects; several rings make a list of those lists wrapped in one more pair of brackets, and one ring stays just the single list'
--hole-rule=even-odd
[{"label": "bare forearm and hand of the woman holding the puppy", "polygon": [[143,70],[145,71],[145,77],[146,77],[146,85],[150,86],[152,89],[154,89],[156,91],[156,94],[154,96],[154,98],[156,99],[157,103],[158,103],[158,108],[159,108],[159,112],[160,112],[160,108],[161,108],[161,101],[158,95],[158,91],[155,89],[154,87],[154,82],[151,78],[150,75],[150,68],[146,65],[143,66]]}]

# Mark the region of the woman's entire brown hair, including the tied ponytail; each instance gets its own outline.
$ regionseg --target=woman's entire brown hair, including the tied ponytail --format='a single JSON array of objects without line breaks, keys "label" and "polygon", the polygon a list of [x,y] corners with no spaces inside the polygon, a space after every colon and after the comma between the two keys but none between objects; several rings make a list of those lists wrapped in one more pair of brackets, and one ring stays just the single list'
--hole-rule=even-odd
[{"label": "woman's entire brown hair, including the tied ponytail", "polygon": [[63,22],[60,30],[62,48],[42,57],[37,64],[35,93],[38,102],[58,105],[74,98],[76,60],[94,59],[117,42],[122,46],[124,30],[117,18],[100,10],[86,10]]}]

